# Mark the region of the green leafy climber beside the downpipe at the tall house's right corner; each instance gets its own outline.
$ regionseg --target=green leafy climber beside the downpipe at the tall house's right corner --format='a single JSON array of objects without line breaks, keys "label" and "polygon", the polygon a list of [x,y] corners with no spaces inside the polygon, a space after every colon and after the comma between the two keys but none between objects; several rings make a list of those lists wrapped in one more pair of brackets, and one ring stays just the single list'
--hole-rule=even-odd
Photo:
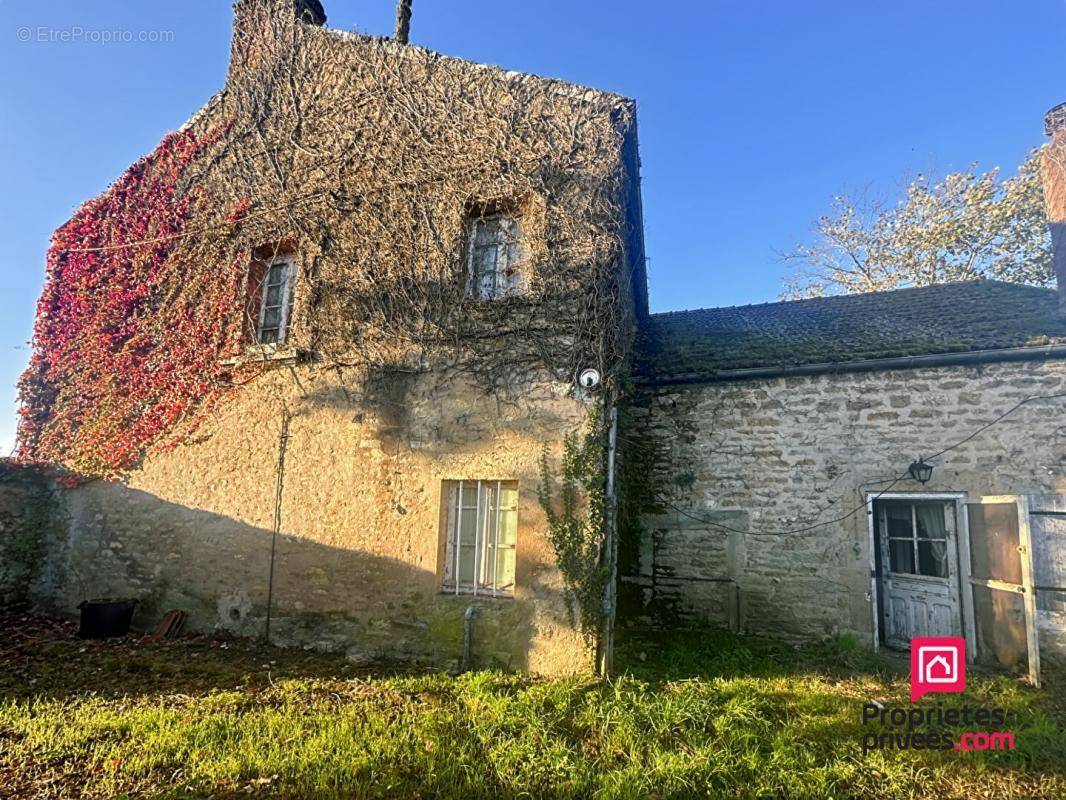
[{"label": "green leafy climber beside the downpipe at the tall house's right corner", "polygon": [[545,445],[537,486],[555,563],[566,583],[572,622],[589,644],[600,633],[609,578],[602,558],[607,437],[602,414],[598,410],[589,413],[582,435],[570,432],[564,437],[562,469],[558,475]]}]

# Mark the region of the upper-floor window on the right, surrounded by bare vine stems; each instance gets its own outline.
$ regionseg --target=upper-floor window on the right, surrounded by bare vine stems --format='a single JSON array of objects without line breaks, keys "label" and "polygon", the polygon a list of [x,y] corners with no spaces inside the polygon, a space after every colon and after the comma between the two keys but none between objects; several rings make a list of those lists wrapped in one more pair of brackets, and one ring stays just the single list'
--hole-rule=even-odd
[{"label": "upper-floor window on the right, surrounded by bare vine stems", "polygon": [[499,300],[522,290],[521,228],[506,214],[470,221],[467,297]]}]

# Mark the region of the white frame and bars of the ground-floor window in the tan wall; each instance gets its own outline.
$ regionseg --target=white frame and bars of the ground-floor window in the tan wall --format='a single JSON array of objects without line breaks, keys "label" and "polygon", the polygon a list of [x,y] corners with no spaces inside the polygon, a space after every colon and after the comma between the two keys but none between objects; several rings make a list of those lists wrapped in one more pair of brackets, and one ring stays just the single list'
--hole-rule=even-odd
[{"label": "white frame and bars of the ground-floor window in the tan wall", "polygon": [[[477,499],[474,506],[468,507],[464,505],[463,495],[464,491],[469,491],[471,486],[477,486]],[[487,487],[487,489],[486,489]],[[504,506],[500,502],[500,496],[502,492],[512,490],[514,492],[514,503]],[[518,566],[518,490],[519,484],[517,480],[504,480],[504,479],[458,479],[458,480],[446,480],[441,483],[441,538],[440,538],[440,558],[441,558],[441,570],[440,570],[440,592],[442,594],[452,594],[458,596],[461,594],[467,594],[471,596],[483,596],[483,597],[499,597],[499,598],[512,598],[515,596],[515,588],[517,586],[517,566]],[[483,501],[483,492],[488,492],[489,496]],[[491,493],[495,492],[495,495]],[[455,498],[456,503],[453,507],[452,498]],[[494,498],[495,497],[495,502]],[[472,579],[470,581],[463,581],[461,575],[462,570],[462,556],[465,548],[469,548],[471,545],[463,544],[463,518],[465,516],[464,512],[473,512],[478,514],[477,522],[474,524],[474,543],[473,547],[473,565],[472,565]],[[491,526],[491,531],[489,531],[489,526],[487,524],[489,513],[495,514],[495,521]],[[500,531],[501,525],[500,521],[502,514],[511,513],[514,514],[514,542],[512,544],[500,544]],[[489,544],[487,539],[491,533],[492,542]],[[511,550],[513,555],[513,572],[511,575],[511,581],[508,586],[499,586],[499,558],[501,550]],[[486,554],[491,553],[492,558],[492,579],[487,581],[488,563]]]}]

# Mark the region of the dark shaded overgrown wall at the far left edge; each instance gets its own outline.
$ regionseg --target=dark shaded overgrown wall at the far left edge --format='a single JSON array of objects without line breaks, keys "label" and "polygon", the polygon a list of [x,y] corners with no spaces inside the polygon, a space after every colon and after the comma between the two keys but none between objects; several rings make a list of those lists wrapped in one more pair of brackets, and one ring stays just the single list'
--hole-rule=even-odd
[{"label": "dark shaded overgrown wall at the far left edge", "polygon": [[0,604],[25,601],[37,578],[51,496],[42,470],[0,459]]}]

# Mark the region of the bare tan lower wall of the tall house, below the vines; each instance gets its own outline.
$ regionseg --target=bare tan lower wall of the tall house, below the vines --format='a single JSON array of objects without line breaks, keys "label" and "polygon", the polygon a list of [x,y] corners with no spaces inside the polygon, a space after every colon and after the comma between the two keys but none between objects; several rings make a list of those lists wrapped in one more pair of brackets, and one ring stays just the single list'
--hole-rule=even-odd
[{"label": "bare tan lower wall of the tall house, below the vines", "polygon": [[[536,501],[545,443],[584,407],[562,384],[489,395],[461,378],[274,370],[235,395],[194,442],[158,453],[126,484],[65,493],[65,538],[49,549],[43,605],[141,601],[134,624],[171,608],[197,630],[261,636],[281,409],[293,412],[274,564],[272,640],[353,658],[454,665],[478,607],[479,663],[587,671]],[[517,480],[516,596],[445,595],[441,482]]]}]

